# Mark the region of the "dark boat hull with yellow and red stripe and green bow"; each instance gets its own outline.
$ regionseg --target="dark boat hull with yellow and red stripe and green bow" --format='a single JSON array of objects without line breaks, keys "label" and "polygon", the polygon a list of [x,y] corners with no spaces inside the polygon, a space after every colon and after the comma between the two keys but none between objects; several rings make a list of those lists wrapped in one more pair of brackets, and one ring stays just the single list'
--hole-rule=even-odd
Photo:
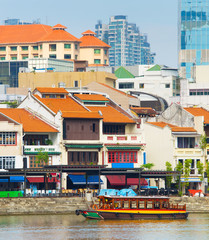
[{"label": "dark boat hull with yellow and red stripe and green bow", "polygon": [[119,220],[139,220],[139,219],[187,219],[188,213],[184,210],[123,210],[101,209],[101,210],[76,210],[76,214],[89,219],[119,219]]}]

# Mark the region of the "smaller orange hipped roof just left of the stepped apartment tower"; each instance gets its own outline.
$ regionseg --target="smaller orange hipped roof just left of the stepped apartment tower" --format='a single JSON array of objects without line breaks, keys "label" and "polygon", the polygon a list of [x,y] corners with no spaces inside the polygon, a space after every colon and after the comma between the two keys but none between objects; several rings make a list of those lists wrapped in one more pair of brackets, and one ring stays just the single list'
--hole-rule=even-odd
[{"label": "smaller orange hipped roof just left of the stepped apartment tower", "polygon": [[[95,37],[93,34],[89,34],[91,31],[88,30],[83,34],[83,37],[80,38],[80,47],[102,47],[102,48],[110,48],[111,46]],[[93,32],[92,32],[93,33]]]}]

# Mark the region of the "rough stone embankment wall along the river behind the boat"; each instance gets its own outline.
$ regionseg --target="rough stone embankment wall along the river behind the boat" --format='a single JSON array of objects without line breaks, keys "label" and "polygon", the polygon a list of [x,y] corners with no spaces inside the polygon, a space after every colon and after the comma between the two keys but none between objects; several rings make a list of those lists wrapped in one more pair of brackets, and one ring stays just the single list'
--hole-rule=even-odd
[{"label": "rough stone embankment wall along the river behind the boat", "polygon": [[[209,213],[209,197],[171,197],[170,202],[186,204],[190,213]],[[0,215],[72,214],[88,205],[80,197],[0,198]]]}]

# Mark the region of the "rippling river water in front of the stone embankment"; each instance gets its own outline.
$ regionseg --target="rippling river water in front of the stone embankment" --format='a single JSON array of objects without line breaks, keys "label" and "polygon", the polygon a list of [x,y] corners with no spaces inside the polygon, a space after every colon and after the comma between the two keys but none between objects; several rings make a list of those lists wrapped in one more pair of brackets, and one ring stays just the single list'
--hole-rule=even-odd
[{"label": "rippling river water in front of the stone embankment", "polygon": [[1,216],[0,239],[209,240],[209,214],[187,220],[86,220],[76,215]]}]

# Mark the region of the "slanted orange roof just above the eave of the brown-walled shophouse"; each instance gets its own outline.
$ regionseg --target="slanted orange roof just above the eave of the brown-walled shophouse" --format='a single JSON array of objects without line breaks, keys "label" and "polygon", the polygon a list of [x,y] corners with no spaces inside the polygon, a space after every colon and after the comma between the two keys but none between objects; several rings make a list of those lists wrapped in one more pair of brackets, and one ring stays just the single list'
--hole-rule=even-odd
[{"label": "slanted orange roof just above the eave of the brown-walled shophouse", "polygon": [[[60,111],[87,111],[84,106],[77,103],[71,97],[66,98],[40,98],[38,95],[34,95],[39,101],[51,109],[54,113]],[[87,111],[88,112],[88,111]]]}]

